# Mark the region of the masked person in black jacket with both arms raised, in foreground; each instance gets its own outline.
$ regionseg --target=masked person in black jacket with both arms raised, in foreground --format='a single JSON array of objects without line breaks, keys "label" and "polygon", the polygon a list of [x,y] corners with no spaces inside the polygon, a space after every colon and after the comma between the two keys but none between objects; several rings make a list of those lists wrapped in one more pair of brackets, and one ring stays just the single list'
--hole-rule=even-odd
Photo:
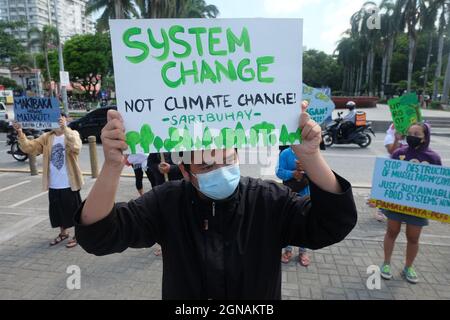
[{"label": "masked person in black jacket with both arms raised, in foreground", "polygon": [[329,246],[357,220],[350,183],[320,154],[320,126],[303,112],[299,128],[302,144],[292,148],[309,174],[310,198],[240,177],[237,152],[226,149],[212,150],[212,163],[206,151],[186,153],[193,162],[180,164],[184,180],[114,204],[127,144],[121,115],[110,110],[105,162],[75,217],[80,245],[107,255],[160,243],[163,299],[280,299],[281,248]]}]

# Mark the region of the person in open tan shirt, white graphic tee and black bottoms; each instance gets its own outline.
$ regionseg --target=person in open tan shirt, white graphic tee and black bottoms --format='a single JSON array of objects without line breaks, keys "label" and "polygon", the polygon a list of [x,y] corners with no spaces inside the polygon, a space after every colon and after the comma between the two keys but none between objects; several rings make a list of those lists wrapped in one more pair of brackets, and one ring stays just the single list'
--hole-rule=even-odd
[{"label": "person in open tan shirt, white graphic tee and black bottoms", "polygon": [[[74,225],[73,216],[81,204],[80,189],[84,183],[78,162],[82,146],[80,135],[66,124],[67,116],[61,114],[58,129],[34,140],[27,139],[19,123],[14,124],[23,152],[43,155],[42,186],[43,190],[48,190],[50,223],[52,228],[60,228],[50,246],[69,238],[67,229]],[[76,245],[73,237],[66,247]]]}]

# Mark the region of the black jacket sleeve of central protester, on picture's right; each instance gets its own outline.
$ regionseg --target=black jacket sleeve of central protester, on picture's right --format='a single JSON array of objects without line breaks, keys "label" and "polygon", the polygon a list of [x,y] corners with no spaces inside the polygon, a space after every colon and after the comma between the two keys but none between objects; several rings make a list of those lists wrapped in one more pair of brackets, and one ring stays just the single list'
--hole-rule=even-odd
[{"label": "black jacket sleeve of central protester, on picture's right", "polygon": [[287,192],[283,204],[282,245],[321,249],[338,243],[352,231],[357,211],[351,185],[336,175],[342,193],[319,189],[310,181],[310,197]]}]

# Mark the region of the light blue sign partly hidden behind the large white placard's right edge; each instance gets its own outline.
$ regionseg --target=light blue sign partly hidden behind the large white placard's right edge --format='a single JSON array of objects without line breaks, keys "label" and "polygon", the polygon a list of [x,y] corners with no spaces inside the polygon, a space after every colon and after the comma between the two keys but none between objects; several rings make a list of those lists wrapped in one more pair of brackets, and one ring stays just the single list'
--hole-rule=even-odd
[{"label": "light blue sign partly hidden behind the large white placard's right edge", "polygon": [[331,117],[336,108],[333,100],[322,89],[316,89],[303,84],[303,100],[309,102],[306,110],[311,118],[318,124],[322,124]]}]

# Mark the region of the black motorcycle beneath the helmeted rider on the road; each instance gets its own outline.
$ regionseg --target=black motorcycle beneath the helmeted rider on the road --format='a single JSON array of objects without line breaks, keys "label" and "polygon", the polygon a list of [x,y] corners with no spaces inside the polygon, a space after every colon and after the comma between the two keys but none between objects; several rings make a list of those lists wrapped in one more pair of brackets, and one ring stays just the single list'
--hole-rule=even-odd
[{"label": "black motorcycle beneath the helmeted rider on the road", "polygon": [[341,117],[343,112],[338,113],[338,118],[331,121],[325,126],[322,131],[323,143],[326,147],[331,147],[333,144],[356,144],[361,148],[367,148],[372,143],[372,134],[375,137],[375,132],[372,129],[372,123],[367,122],[363,126],[353,125],[344,136],[341,127],[344,119]]}]

